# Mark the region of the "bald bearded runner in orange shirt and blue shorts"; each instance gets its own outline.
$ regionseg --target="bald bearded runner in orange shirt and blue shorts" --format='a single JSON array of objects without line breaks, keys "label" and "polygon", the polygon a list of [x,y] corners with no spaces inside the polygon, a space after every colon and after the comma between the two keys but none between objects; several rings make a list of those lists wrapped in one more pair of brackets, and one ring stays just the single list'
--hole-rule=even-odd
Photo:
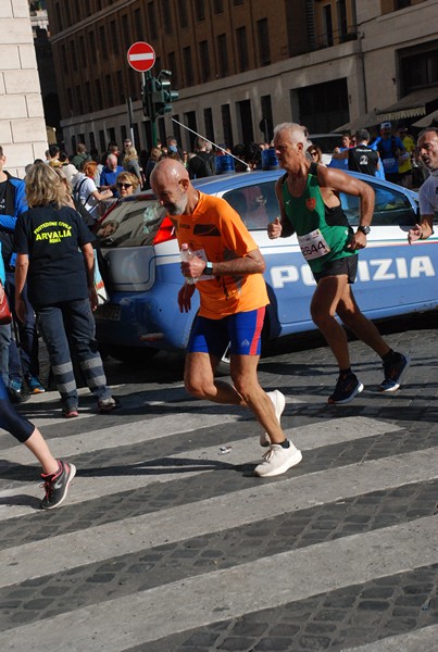
[{"label": "bald bearded runner in orange shirt and blue shorts", "polygon": [[[266,393],[258,379],[270,302],[263,256],[236,211],[225,200],[199,192],[179,162],[160,161],[150,183],[175,224],[179,248],[188,244],[192,253],[182,262],[186,284],[178,292],[179,310],[188,312],[193,292],[200,293],[186,358],[186,389],[199,399],[251,410],[264,430],[260,442],[268,447],[254,474],[280,475],[301,461],[301,452],[279,424],[285,397],[278,390]],[[214,378],[228,342],[233,385]]]}]

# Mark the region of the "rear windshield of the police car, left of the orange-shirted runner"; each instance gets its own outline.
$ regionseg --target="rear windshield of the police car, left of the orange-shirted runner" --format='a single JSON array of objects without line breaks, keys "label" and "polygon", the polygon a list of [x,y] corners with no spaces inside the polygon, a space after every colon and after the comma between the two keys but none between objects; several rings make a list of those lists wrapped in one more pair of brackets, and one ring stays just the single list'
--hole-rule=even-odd
[{"label": "rear windshield of the police car, left of the orange-shirted runner", "polygon": [[151,244],[165,214],[155,199],[125,201],[109,212],[97,235],[103,247]]}]

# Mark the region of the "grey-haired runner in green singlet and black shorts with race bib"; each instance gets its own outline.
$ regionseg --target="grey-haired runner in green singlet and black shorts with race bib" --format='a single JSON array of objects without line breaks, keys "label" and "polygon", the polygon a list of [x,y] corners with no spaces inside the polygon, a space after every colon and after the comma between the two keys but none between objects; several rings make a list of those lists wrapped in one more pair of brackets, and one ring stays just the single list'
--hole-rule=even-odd
[{"label": "grey-haired runner in green singlet and black shorts with race bib", "polygon": [[[306,138],[300,125],[277,125],[274,147],[286,174],[276,185],[280,217],[268,225],[267,233],[270,238],[285,238],[296,233],[317,283],[311,303],[312,319],[339,365],[338,381],[328,402],[349,403],[363,390],[363,384],[351,371],[347,335],[336,314],[381,358],[385,378],[380,390],[396,391],[410,360],[385,342],[376,326],[362,314],[351,289],[358,271],[358,251],[366,247],[371,230],[374,191],[340,170],[309,161]],[[342,211],[339,192],[360,198],[360,223],[355,233]]]}]

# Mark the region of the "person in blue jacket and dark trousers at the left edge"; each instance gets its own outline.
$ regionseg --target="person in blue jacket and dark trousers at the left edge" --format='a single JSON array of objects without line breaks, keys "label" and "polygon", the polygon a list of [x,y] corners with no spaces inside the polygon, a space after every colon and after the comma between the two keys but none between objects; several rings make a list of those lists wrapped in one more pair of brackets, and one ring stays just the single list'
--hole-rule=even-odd
[{"label": "person in blue jacket and dark trousers at the left edge", "polygon": [[[5,268],[4,289],[10,302],[11,312],[15,315],[14,273],[16,255],[13,251],[13,237],[16,221],[22,213],[27,211],[27,203],[24,181],[13,177],[9,172],[3,170],[5,162],[7,158],[3,153],[3,148],[0,146],[0,243]],[[5,367],[2,366],[2,373],[9,375],[9,380],[5,379],[5,383],[13,402],[20,402],[24,399],[23,377],[30,393],[45,391],[38,378],[38,336],[35,313],[27,301],[26,293],[25,301],[28,308],[26,321],[24,324],[17,323],[20,353],[15,340],[11,337],[10,329],[9,365]]]}]

